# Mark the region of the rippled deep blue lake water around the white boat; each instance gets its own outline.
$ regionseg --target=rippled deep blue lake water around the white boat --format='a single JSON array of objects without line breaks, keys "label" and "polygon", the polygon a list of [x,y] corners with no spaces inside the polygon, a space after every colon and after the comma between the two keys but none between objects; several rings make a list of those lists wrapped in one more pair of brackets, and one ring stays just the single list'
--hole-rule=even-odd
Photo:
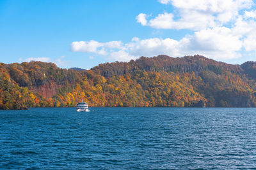
[{"label": "rippled deep blue lake water around the white boat", "polygon": [[0,169],[256,167],[255,108],[0,111]]}]

